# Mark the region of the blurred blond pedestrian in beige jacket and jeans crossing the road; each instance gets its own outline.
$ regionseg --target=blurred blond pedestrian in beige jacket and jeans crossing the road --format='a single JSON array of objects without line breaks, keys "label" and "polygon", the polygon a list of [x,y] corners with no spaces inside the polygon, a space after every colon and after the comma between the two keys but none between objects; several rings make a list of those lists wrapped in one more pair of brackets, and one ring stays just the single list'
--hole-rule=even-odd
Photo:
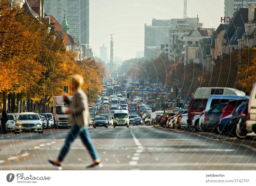
[{"label": "blurred blond pedestrian in beige jacket and jeans crossing the road", "polygon": [[69,151],[70,145],[73,143],[74,139],[77,136],[81,137],[82,142],[86,146],[87,150],[89,151],[93,162],[87,168],[92,167],[102,167],[100,163],[100,158],[98,153],[91,142],[89,131],[87,126],[90,122],[90,114],[87,102],[87,96],[83,90],[80,89],[80,86],[83,84],[84,80],[83,77],[76,74],[70,78],[69,81],[69,88],[72,92],[72,100],[69,101],[67,94],[63,93],[64,101],[69,105],[69,109],[65,109],[65,114],[69,114],[69,122],[72,124],[72,128],[69,131],[69,134],[65,140],[65,144],[60,151],[60,155],[57,160],[48,160],[48,162],[59,168],[62,169],[62,161],[65,158],[66,154]]}]

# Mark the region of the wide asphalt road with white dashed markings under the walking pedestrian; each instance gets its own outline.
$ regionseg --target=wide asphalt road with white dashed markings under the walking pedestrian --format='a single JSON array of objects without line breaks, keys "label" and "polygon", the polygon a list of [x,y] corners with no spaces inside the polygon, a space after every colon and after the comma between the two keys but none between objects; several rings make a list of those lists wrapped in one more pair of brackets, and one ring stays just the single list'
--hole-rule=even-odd
[{"label": "wide asphalt road with white dashed markings under the walking pedestrian", "polygon": [[[95,170],[256,170],[255,151],[193,133],[151,126],[89,128],[103,167]],[[54,170],[68,129],[0,136],[1,170]],[[86,170],[91,158],[78,138],[63,170]]]}]

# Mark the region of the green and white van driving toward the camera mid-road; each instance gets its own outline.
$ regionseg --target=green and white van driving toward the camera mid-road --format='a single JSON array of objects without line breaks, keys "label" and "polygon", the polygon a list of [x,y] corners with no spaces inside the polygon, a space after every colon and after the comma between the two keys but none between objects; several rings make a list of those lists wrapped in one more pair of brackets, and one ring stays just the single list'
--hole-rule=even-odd
[{"label": "green and white van driving toward the camera mid-road", "polygon": [[114,112],[113,126],[114,128],[119,126],[126,126],[128,128],[130,126],[128,110],[116,110]]}]

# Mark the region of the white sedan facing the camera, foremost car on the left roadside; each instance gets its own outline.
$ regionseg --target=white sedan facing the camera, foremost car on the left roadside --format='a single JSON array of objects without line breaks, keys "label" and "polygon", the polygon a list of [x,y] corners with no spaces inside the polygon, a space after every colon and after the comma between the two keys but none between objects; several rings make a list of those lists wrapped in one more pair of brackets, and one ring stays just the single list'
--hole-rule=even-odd
[{"label": "white sedan facing the camera, foremost car on the left roadside", "polygon": [[38,132],[43,134],[43,121],[39,114],[32,112],[20,113],[18,119],[15,120],[15,134],[20,132]]}]

